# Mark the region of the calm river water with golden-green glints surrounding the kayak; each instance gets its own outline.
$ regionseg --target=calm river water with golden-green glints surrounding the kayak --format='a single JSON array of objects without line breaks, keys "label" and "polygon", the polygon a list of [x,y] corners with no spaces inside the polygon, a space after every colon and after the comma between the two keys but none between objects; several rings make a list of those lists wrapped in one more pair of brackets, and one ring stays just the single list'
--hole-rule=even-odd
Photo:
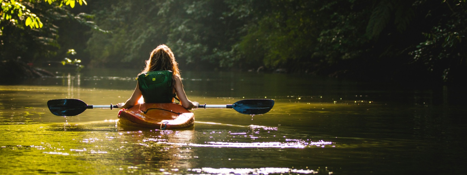
[{"label": "calm river water with golden-green glints surrounding the kayak", "polygon": [[57,77],[0,85],[0,174],[467,173],[467,110],[448,87],[182,71],[192,101],[269,98],[275,106],[255,116],[197,109],[193,128],[173,131],[122,126],[115,109],[58,117],[47,108],[56,98],[124,102],[138,72],[57,70]]}]

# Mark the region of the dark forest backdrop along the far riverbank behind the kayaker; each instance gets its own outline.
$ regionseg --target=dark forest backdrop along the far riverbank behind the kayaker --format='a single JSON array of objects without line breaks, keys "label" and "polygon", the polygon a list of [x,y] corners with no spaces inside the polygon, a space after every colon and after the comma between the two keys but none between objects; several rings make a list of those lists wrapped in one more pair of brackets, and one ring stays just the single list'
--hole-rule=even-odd
[{"label": "dark forest backdrop along the far riverbank behind the kayaker", "polygon": [[28,5],[44,19],[42,28],[0,23],[2,61],[48,65],[67,57],[86,67],[143,69],[150,51],[166,44],[181,70],[434,84],[457,84],[466,76],[465,0],[44,3]]}]

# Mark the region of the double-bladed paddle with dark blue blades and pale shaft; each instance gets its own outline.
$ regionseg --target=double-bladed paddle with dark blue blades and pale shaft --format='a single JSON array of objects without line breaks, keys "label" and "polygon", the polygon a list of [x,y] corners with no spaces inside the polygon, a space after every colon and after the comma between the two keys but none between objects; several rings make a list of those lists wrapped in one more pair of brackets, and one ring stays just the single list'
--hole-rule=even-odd
[{"label": "double-bladed paddle with dark blue blades and pale shaft", "polygon": [[[117,108],[117,105],[86,105],[79,99],[53,99],[47,102],[50,112],[57,116],[75,116],[83,113],[86,109],[94,108]],[[272,99],[244,99],[232,105],[199,105],[198,108],[232,108],[237,112],[248,115],[258,115],[269,112],[274,106]]]}]

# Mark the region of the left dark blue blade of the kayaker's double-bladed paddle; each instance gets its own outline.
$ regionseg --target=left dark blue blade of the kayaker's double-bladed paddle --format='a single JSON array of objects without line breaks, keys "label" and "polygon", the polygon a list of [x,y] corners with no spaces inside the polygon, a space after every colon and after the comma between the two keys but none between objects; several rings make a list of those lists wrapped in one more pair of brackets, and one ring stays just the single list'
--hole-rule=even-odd
[{"label": "left dark blue blade of the kayaker's double-bladed paddle", "polygon": [[86,103],[79,99],[53,99],[47,101],[47,106],[56,116],[75,116],[87,109]]}]

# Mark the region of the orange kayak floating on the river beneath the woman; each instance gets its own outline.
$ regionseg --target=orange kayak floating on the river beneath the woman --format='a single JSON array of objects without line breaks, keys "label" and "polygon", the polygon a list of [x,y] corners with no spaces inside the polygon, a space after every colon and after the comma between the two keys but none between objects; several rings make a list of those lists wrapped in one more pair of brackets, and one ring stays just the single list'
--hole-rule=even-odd
[{"label": "orange kayak floating on the river beneath the woman", "polygon": [[195,115],[175,103],[143,103],[118,113],[120,124],[161,130],[193,127]]}]

